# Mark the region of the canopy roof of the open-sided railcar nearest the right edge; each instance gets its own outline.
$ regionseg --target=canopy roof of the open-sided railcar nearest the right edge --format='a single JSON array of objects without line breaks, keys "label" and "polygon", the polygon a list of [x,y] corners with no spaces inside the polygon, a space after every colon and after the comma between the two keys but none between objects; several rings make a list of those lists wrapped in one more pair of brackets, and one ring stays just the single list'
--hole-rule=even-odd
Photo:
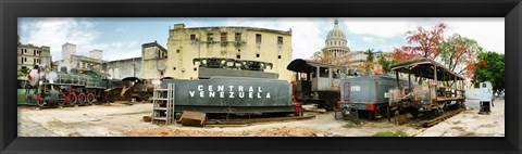
[{"label": "canopy roof of the open-sided railcar nearest the right edge", "polygon": [[391,69],[399,73],[411,73],[415,76],[434,79],[433,67],[437,66],[437,80],[463,80],[464,77],[449,70],[448,67],[426,57],[414,57],[391,65]]}]

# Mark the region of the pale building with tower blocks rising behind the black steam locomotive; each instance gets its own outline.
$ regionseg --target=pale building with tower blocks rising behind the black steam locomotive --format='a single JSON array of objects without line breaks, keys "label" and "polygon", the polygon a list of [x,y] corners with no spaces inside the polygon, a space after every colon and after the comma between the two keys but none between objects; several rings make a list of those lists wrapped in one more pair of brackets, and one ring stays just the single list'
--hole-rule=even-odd
[{"label": "pale building with tower blocks rising behind the black steam locomotive", "polygon": [[101,50],[91,50],[89,51],[89,56],[76,55],[76,44],[66,42],[62,44],[62,60],[59,61],[58,68],[62,67],[71,70],[76,68],[78,70],[102,70],[102,51]]}]

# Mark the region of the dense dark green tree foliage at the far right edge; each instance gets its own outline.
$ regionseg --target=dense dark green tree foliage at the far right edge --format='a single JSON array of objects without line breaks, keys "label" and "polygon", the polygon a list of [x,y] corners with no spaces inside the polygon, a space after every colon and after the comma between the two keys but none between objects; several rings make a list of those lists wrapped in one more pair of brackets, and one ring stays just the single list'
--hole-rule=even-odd
[{"label": "dense dark green tree foliage at the far right edge", "polygon": [[478,60],[485,62],[485,65],[481,62],[475,64],[473,82],[489,81],[492,82],[494,92],[500,92],[505,90],[505,54],[498,54],[496,52],[480,52]]}]

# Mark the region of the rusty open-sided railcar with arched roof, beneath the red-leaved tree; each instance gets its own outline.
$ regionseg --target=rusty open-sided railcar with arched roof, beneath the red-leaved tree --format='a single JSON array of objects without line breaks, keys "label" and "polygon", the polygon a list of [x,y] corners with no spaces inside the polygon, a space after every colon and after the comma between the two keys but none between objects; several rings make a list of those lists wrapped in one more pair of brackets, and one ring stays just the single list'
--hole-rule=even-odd
[{"label": "rusty open-sided railcar with arched roof, beneath the red-leaved tree", "polygon": [[[425,57],[410,59],[391,65],[396,72],[397,85],[388,90],[390,113],[431,113],[435,116],[450,106],[464,106],[464,77],[451,72],[446,66]],[[402,85],[399,73],[425,79],[421,85]]]}]

